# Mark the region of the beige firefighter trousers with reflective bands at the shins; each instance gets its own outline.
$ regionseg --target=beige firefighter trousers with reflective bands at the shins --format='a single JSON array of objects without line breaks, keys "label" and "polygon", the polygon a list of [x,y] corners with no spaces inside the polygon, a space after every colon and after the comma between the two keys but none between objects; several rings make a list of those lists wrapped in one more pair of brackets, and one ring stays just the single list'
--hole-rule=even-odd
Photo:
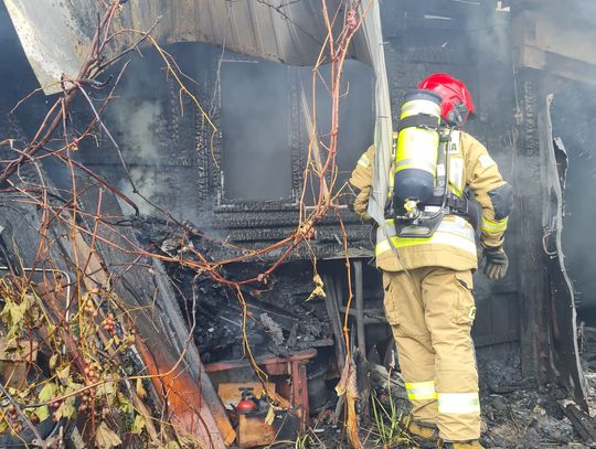
[{"label": "beige firefighter trousers with reflective bands at the shins", "polygon": [[414,419],[437,425],[444,440],[478,439],[471,271],[444,267],[383,271],[383,287]]}]

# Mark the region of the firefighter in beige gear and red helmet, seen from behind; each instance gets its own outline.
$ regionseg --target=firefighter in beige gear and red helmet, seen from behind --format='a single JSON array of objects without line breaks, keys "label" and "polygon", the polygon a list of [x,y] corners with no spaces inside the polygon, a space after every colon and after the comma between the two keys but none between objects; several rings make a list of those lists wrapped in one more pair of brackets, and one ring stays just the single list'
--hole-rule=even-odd
[{"label": "firefighter in beige gear and red helmet, seen from behind", "polygon": [[[377,226],[376,266],[383,272],[385,313],[412,406],[405,423],[409,434],[423,447],[482,448],[470,338],[472,272],[479,258],[467,193],[481,207],[483,272],[497,280],[509,265],[503,234],[512,189],[487,149],[460,129],[475,113],[466,85],[434,74],[418,88],[406,99],[394,135],[393,186],[386,192],[391,212],[385,226]],[[427,159],[421,160],[424,154]],[[356,192],[352,207],[363,221],[371,221],[374,158],[371,147],[350,179]],[[430,193],[425,182],[433,183]]]}]

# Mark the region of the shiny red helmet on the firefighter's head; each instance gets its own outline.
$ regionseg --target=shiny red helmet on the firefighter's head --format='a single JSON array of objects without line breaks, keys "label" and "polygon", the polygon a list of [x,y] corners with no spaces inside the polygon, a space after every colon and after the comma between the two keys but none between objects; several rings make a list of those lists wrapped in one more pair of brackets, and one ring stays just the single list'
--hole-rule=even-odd
[{"label": "shiny red helmet on the firefighter's head", "polygon": [[464,126],[475,113],[471,95],[466,85],[446,73],[435,73],[418,84],[418,88],[440,95],[440,116],[451,125]]}]

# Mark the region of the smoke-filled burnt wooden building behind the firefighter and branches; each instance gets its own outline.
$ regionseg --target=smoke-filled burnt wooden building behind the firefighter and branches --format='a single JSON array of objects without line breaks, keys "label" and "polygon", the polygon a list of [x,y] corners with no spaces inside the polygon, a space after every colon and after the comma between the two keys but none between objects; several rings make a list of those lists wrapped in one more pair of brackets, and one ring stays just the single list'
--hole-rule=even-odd
[{"label": "smoke-filled burnt wooden building behind the firefighter and branches", "polygon": [[[94,22],[85,0],[76,8],[53,4],[50,22],[24,1],[4,3],[0,79],[13,87],[0,89],[3,114],[40,85],[56,95],[60,85],[52,83],[62,73],[76,73]],[[556,382],[587,407],[576,304],[579,299],[589,320],[586,266],[593,245],[584,233],[590,223],[586,185],[594,173],[596,53],[586,42],[594,34],[594,7],[573,1],[563,10],[554,1],[532,0],[375,2],[343,66],[337,170],[321,184],[316,179],[320,161],[312,154],[326,154],[332,74],[324,58],[317,65],[327,32],[319,2],[149,3],[126,2],[119,24],[149,30],[156,23],[151,32],[161,46],[143,42],[142,55],[131,53],[109,68],[105,77],[116,79],[129,61],[117,98],[103,113],[106,127],[82,141],[77,153],[82,164],[138,204],[140,216],[127,227],[128,238],[173,258],[189,256],[184,245],[191,244],[209,261],[223,261],[221,272],[233,280],[257,277],[283,259],[267,282],[243,290],[254,318],[248,344],[256,355],[316,349],[311,373],[331,365],[339,374],[333,365],[345,351],[343,316],[353,296],[350,334],[370,362],[387,364],[392,339],[371,226],[349,211],[342,193],[360,154],[391,136],[404,93],[429,73],[453,74],[466,81],[477,107],[468,130],[487,146],[515,191],[505,240],[510,272],[501,282],[475,276],[473,340],[482,387],[499,393]],[[340,14],[349,9],[330,3]],[[187,77],[164,68],[172,61],[175,73]],[[73,124],[79,126],[93,119],[93,111],[77,101]],[[45,107],[38,96],[11,120],[26,136]],[[312,146],[313,129],[319,148]],[[66,165],[47,158],[43,167],[58,191],[68,191]],[[104,213],[123,220],[135,215],[121,197],[102,196],[100,186],[85,181],[84,173],[77,177],[86,190],[84,209],[96,209],[103,197]],[[311,238],[288,254],[291,242],[262,254],[292,235],[324,185],[338,194]],[[19,240],[18,226],[2,226],[4,243]],[[243,356],[241,308],[225,287],[171,260],[151,263],[158,275],[131,274],[129,255],[99,247],[121,284],[119,295],[142,306],[158,291],[161,312],[170,317],[162,325],[178,334],[174,352],[192,321],[184,304],[198,298],[196,346],[189,351],[189,364],[199,356],[204,363]],[[305,302],[318,281],[326,297]],[[158,351],[161,338],[155,336],[151,351]],[[198,376],[204,373],[191,377]]]}]

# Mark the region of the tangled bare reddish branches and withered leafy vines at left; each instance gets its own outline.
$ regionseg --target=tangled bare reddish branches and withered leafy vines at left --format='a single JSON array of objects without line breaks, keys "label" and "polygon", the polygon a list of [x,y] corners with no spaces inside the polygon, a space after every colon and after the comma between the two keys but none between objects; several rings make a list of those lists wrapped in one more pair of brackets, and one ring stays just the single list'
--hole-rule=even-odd
[{"label": "tangled bare reddish branches and withered leafy vines at left", "polygon": [[[294,2],[292,0],[272,8],[278,13],[286,14],[283,9]],[[0,286],[2,298],[4,298],[0,319],[7,330],[7,339],[10,344],[20,348],[21,341],[35,340],[40,342],[40,350],[52,354],[47,365],[49,370],[45,370],[51,374],[49,377],[43,374],[44,368],[38,367],[34,376],[35,382],[28,385],[26,388],[17,388],[14,392],[3,387],[0,389],[9,400],[13,402],[14,407],[14,413],[4,410],[2,420],[0,420],[0,431],[11,430],[17,436],[22,431],[23,423],[35,431],[35,423],[47,419],[50,416],[56,426],[63,426],[78,414],[88,419],[87,431],[95,438],[96,443],[109,448],[120,441],[115,431],[117,424],[114,416],[117,411],[127,417],[128,424],[125,427],[129,432],[142,436],[152,443],[163,443],[171,438],[177,438],[179,442],[184,438],[188,439],[188,437],[180,435],[180,429],[171,421],[156,419],[147,413],[143,399],[148,399],[150,396],[146,391],[149,388],[149,384],[146,385],[143,382],[156,377],[169,378],[181,370],[187,349],[192,342],[194,323],[189,329],[181,354],[169,371],[157,375],[124,373],[121,364],[124,359],[139,360],[135,349],[139,341],[137,340],[134,311],[126,308],[116,296],[114,290],[116,279],[111,277],[109,267],[102,266],[102,260],[97,257],[100,245],[132,260],[124,270],[125,272],[132,266],[138,266],[139,260],[157,260],[190,268],[209,276],[216,284],[227,286],[235,292],[243,310],[246,354],[259,378],[265,382],[266,375],[256,364],[246,336],[247,312],[242,287],[254,284],[267,285],[272,274],[287,261],[300,245],[309,244],[317,225],[329,211],[337,212],[336,200],[339,190],[341,190],[336,185],[341,81],[343,64],[349,55],[352,39],[362,25],[362,17],[359,17],[358,13],[361,10],[361,0],[358,0],[353,8],[349,8],[343,17],[340,17],[341,8],[330,13],[326,0],[321,0],[327,35],[312,70],[311,116],[312,122],[317,124],[315,93],[321,78],[319,70],[322,64],[329,64],[331,76],[326,86],[331,98],[331,127],[329,132],[324,135],[320,133],[316,125],[310,130],[296,228],[290,235],[262,249],[249,250],[234,247],[243,255],[223,260],[211,260],[200,249],[190,245],[188,226],[139,191],[127,168],[120,145],[103,119],[107,106],[116,100],[115,92],[125,76],[128,63],[121,65],[115,78],[108,77],[104,81],[99,78],[105,75],[108,67],[145,43],[156,50],[166,66],[168,76],[178,86],[180,107],[183,106],[182,98],[189,98],[210,126],[211,145],[213,145],[217,131],[215,124],[203,109],[200,100],[192,89],[187,87],[185,83],[190,78],[180,70],[173,57],[150,35],[157,22],[146,32],[115,31],[114,22],[121,3],[121,0],[103,2],[103,14],[98,20],[89,52],[78,74],[73,78],[67,76],[61,78],[61,95],[41,119],[33,138],[23,143],[22,148],[17,148],[18,139],[7,139],[0,142],[0,147],[9,147],[8,150],[15,154],[14,159],[2,164],[0,185],[8,185],[2,192],[10,195],[12,202],[39,211],[40,217],[40,222],[34,224],[40,236],[36,243],[34,270],[25,274],[22,266],[10,267],[9,275],[2,278]],[[364,14],[371,6],[372,0],[364,8]],[[340,32],[334,33],[333,30],[337,29],[338,21],[342,21],[343,24]],[[119,53],[107,56],[110,45],[124,34],[137,36],[137,41]],[[97,103],[94,100],[92,92],[106,92],[106,95]],[[28,98],[29,96],[22,101]],[[76,98],[82,99],[92,115],[89,122],[81,132],[76,131],[71,120]],[[17,107],[21,104],[20,101]],[[137,203],[75,158],[81,143],[86,139],[94,139],[94,132],[102,132],[106,136],[117,151],[125,177],[132,186],[132,192],[150,204],[157,215],[163,216],[179,227],[182,232],[181,247],[184,248],[183,252],[170,255],[155,246],[142,246],[131,238],[130,234],[123,231],[124,225],[130,225],[138,220],[139,207]],[[57,142],[60,145],[56,148]],[[70,191],[58,192],[51,182],[46,181],[40,163],[47,158],[53,158],[68,169]],[[93,180],[99,186],[95,210],[86,210],[82,205],[81,197],[88,189],[88,186],[81,186],[82,178]],[[320,189],[316,204],[307,209],[305,197],[307,185],[311,180],[315,180]],[[103,213],[103,195],[106,191],[132,207],[134,216],[131,220]],[[339,218],[339,214],[337,216]],[[341,220],[340,226],[349,275],[347,234]],[[60,242],[63,242],[64,236],[67,236],[68,245],[64,246],[70,246],[67,252],[70,256],[65,257],[64,260],[56,260],[56,247]],[[212,237],[201,236],[216,242]],[[220,244],[230,246],[226,242],[220,242]],[[255,276],[232,279],[226,274],[226,266],[241,261],[259,260],[262,256],[273,252],[280,252],[281,255]],[[65,272],[65,268],[66,271],[74,274],[73,278],[67,281],[64,276],[56,275]],[[41,272],[41,281],[34,281],[35,272]],[[350,301],[351,293],[349,303]],[[347,348],[350,348],[347,322],[344,323],[344,338]],[[29,360],[29,362],[33,361]],[[132,387],[132,383],[136,383],[136,387]],[[15,394],[18,399],[14,399]],[[196,413],[199,415],[199,410]],[[156,426],[160,428],[159,435]],[[36,435],[36,438],[41,446],[46,445],[40,435]],[[190,443],[192,447],[199,445],[198,441]]]}]

